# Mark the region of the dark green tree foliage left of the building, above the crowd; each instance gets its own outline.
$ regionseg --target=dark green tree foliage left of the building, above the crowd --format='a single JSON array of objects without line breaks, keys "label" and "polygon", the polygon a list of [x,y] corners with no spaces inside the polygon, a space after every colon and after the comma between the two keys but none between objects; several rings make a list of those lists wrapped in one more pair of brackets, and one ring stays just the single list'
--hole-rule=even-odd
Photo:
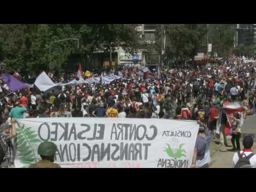
[{"label": "dark green tree foliage left of the building, above the crowd", "polygon": [[[38,73],[41,70],[59,70],[72,53],[92,54],[101,49],[102,43],[114,42],[126,51],[136,49],[135,25],[121,24],[11,24],[0,25],[0,54],[7,64],[5,71],[22,74]],[[76,41],[61,39],[79,39]],[[56,43],[54,43],[56,42]],[[110,46],[106,47],[109,51]],[[0,59],[1,59],[0,58]]]}]

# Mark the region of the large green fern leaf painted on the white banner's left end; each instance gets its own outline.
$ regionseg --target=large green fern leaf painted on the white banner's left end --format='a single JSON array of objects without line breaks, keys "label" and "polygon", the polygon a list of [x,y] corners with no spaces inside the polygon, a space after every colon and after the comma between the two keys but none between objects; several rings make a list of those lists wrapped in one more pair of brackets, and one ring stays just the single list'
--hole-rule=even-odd
[{"label": "large green fern leaf painted on the white banner's left end", "polygon": [[19,161],[24,164],[23,167],[28,167],[31,164],[37,163],[37,151],[35,151],[33,146],[42,141],[38,139],[37,132],[31,131],[31,127],[25,127],[24,124],[22,125],[20,123],[17,123],[17,125],[17,150],[19,152]]}]

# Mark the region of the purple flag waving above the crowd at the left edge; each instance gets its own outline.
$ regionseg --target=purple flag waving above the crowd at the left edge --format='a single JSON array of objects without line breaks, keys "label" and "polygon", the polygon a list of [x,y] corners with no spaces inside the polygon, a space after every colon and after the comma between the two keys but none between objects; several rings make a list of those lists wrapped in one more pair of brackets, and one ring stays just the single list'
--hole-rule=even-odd
[{"label": "purple flag waving above the crowd at the left edge", "polygon": [[12,92],[28,88],[25,83],[22,83],[10,74],[2,74],[1,77],[3,78],[4,83],[9,87]]}]

